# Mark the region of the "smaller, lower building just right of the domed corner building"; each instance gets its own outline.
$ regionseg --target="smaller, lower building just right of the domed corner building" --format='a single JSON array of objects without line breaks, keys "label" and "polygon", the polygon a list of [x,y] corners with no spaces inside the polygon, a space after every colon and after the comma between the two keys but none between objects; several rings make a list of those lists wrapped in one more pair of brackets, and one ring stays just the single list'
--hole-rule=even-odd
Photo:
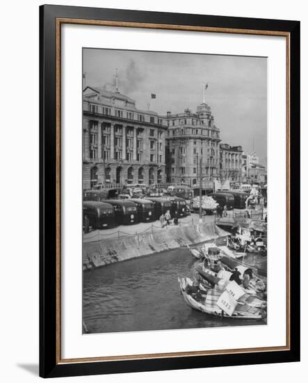
[{"label": "smaller, lower building just right of the domed corner building", "polygon": [[242,177],[242,155],[241,146],[230,146],[220,143],[220,179],[241,182]]}]

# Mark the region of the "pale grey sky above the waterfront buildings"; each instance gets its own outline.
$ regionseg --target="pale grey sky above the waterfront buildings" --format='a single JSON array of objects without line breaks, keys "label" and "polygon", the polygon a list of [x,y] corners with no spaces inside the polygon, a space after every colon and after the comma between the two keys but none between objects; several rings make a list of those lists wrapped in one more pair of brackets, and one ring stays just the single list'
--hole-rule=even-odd
[{"label": "pale grey sky above the waterfront buildings", "polygon": [[[267,59],[117,49],[83,49],[87,86],[114,90],[117,68],[120,92],[138,109],[158,114],[195,112],[203,100],[211,107],[222,143],[267,153]],[[151,100],[151,93],[156,99]]]}]

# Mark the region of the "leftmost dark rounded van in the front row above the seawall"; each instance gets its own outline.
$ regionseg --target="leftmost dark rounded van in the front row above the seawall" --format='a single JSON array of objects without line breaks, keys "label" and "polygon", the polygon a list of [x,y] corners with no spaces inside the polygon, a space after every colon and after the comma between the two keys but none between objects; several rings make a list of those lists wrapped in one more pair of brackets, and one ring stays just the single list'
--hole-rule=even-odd
[{"label": "leftmost dark rounded van in the front row above the seawall", "polygon": [[112,205],[98,201],[83,201],[83,221],[88,217],[92,228],[111,228],[115,226],[115,213]]}]

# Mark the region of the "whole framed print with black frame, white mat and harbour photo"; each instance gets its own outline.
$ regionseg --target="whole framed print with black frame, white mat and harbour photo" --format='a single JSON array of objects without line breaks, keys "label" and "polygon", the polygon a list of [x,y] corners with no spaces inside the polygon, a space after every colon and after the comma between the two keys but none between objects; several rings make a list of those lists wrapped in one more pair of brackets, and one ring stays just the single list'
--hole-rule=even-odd
[{"label": "whole framed print with black frame, white mat and harbour photo", "polygon": [[300,22],[40,7],[40,376],[300,359]]}]

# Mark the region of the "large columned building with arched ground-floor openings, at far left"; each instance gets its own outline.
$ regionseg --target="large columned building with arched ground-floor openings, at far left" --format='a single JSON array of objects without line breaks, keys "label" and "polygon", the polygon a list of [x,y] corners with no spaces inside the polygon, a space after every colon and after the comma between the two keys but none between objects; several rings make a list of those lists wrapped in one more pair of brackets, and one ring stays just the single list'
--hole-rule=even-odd
[{"label": "large columned building with arched ground-floor openings, at far left", "polygon": [[83,189],[165,182],[166,121],[118,89],[83,91]]}]

